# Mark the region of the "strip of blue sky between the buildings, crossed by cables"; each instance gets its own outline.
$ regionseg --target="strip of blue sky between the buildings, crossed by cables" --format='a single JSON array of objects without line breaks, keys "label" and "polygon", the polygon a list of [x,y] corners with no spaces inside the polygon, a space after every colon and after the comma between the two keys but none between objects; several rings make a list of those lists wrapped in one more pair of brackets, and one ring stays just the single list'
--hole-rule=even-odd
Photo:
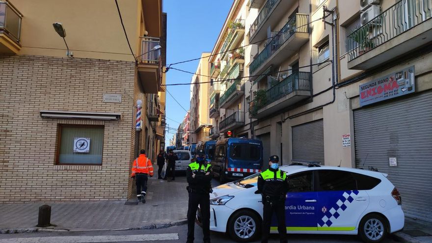
[{"label": "strip of blue sky between the buildings, crossed by cables", "polygon": [[[203,52],[211,52],[220,29],[225,22],[233,0],[163,0],[163,12],[167,13],[167,65],[198,58]],[[198,60],[172,67],[194,73]],[[177,70],[166,73],[166,83],[190,83],[191,74]],[[190,85],[167,86],[168,91],[186,110],[189,110]],[[166,93],[166,124],[177,129],[186,111]],[[167,130],[165,144],[173,138],[173,130]]]}]

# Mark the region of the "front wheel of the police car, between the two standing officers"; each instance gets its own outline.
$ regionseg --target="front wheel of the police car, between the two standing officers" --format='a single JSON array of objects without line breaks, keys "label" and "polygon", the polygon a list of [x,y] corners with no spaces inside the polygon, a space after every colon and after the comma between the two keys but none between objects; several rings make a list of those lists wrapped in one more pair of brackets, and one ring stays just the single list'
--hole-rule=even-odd
[{"label": "front wheel of the police car, between the two standing officers", "polygon": [[261,218],[249,210],[240,210],[228,220],[228,234],[236,242],[252,242],[261,234]]}]

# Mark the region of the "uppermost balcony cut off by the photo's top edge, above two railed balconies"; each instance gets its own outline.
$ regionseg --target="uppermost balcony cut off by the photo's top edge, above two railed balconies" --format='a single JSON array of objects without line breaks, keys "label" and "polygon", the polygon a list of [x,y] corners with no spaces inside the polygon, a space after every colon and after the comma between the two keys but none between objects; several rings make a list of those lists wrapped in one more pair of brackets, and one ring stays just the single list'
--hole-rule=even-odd
[{"label": "uppermost balcony cut off by the photo's top edge, above two railed balconies", "polygon": [[[254,0],[251,4],[256,6]],[[262,2],[262,0],[257,1]],[[264,7],[258,13],[257,18],[249,28],[249,43],[258,42],[267,38],[267,29],[274,28],[279,21],[284,18],[288,9],[291,8],[297,0],[267,0]],[[260,6],[262,3],[260,4]]]}]

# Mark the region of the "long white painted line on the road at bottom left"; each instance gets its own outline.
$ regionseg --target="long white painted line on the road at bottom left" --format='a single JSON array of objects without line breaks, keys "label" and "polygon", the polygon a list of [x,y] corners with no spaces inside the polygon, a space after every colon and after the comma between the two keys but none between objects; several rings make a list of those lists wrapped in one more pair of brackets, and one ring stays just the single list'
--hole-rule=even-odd
[{"label": "long white painted line on the road at bottom left", "polygon": [[89,243],[89,242],[149,242],[178,240],[177,233],[121,236],[50,236],[1,239],[0,243]]}]

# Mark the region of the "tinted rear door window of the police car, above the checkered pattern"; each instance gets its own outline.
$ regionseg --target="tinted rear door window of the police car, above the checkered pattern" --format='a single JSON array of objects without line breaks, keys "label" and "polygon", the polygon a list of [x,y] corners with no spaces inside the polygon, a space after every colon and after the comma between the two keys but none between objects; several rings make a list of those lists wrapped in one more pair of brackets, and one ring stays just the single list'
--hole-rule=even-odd
[{"label": "tinted rear door window of the police car, above the checkered pattern", "polygon": [[342,170],[318,170],[320,190],[355,190],[351,172]]}]

